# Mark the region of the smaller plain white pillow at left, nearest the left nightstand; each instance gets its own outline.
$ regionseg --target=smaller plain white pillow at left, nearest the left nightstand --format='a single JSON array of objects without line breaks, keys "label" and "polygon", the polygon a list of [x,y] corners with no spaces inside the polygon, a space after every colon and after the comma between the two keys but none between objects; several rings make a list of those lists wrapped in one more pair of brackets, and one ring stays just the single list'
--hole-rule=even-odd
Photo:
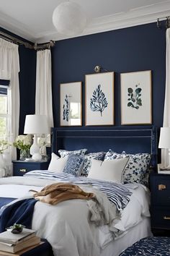
[{"label": "smaller plain white pillow at left, nearest the left nightstand", "polygon": [[60,158],[58,155],[55,155],[55,153],[52,153],[48,171],[63,172],[63,168],[66,166],[67,159],[68,155],[64,158]]}]

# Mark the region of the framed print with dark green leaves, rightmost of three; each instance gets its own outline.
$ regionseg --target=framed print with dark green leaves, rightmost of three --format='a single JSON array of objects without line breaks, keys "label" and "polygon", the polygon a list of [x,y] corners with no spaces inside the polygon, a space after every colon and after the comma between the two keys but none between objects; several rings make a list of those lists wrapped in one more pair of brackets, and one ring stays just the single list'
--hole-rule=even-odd
[{"label": "framed print with dark green leaves, rightmost of three", "polygon": [[151,70],[120,74],[121,124],[151,124]]}]

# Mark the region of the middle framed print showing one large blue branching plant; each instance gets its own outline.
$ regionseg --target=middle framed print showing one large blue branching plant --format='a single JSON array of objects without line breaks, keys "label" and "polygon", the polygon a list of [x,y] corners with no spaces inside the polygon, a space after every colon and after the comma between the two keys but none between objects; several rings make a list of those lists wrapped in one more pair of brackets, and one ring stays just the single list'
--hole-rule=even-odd
[{"label": "middle framed print showing one large blue branching plant", "polygon": [[86,74],[85,125],[114,124],[114,72]]}]

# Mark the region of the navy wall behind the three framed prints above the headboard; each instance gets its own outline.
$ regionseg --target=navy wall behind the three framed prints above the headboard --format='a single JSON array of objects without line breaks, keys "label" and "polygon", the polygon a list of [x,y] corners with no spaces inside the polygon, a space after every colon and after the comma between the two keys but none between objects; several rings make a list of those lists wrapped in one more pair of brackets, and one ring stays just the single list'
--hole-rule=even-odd
[{"label": "navy wall behind the three framed prints above the headboard", "polygon": [[120,72],[151,69],[153,124],[162,126],[166,33],[165,29],[159,30],[156,23],[57,41],[52,48],[52,60],[55,127],[59,126],[60,83],[82,81],[84,90],[84,75],[93,73],[97,64],[115,72],[116,126],[120,126]]}]

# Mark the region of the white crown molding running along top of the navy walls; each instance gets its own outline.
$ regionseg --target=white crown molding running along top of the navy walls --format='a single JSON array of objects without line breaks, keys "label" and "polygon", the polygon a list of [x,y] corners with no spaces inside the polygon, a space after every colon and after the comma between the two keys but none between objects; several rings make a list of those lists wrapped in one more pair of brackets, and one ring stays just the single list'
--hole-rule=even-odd
[{"label": "white crown molding running along top of the navy walls", "polygon": [[[156,22],[157,18],[163,17],[162,20],[164,20],[167,16],[170,16],[170,0],[162,1],[158,4],[151,4],[146,7],[130,9],[128,12],[120,12],[117,14],[89,20],[84,32],[73,37],[102,33],[109,30],[117,30],[125,27],[133,27],[136,25],[143,25]],[[14,20],[1,12],[0,23],[1,27],[4,27],[4,29],[9,30],[12,33],[15,33],[22,38],[30,40],[34,43],[45,43],[49,40],[63,40],[71,38],[57,33],[55,27],[53,27],[52,30],[35,34],[21,22],[18,22],[17,20]]]}]

